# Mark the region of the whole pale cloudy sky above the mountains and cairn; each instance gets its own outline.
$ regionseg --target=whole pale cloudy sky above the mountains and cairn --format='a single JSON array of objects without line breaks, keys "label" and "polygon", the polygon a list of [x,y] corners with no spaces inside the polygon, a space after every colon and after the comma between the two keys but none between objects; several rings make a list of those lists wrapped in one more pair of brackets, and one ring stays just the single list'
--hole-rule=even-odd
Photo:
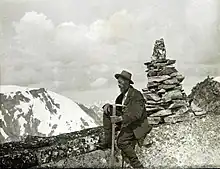
[{"label": "whole pale cloudy sky above the mountains and cairn", "polygon": [[161,37],[186,90],[220,75],[219,0],[0,0],[0,82],[89,102],[125,69],[141,89]]}]

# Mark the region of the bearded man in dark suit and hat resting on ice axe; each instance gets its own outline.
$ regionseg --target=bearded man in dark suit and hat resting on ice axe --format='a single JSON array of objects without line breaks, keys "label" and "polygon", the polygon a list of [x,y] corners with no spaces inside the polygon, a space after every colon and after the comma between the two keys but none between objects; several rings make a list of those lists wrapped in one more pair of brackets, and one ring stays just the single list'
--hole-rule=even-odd
[{"label": "bearded man in dark suit and hat resting on ice axe", "polygon": [[145,99],[140,91],[131,86],[134,84],[131,76],[131,73],[125,70],[121,74],[115,75],[121,91],[115,103],[124,106],[116,108],[116,116],[112,116],[112,105],[105,104],[103,106],[104,141],[100,144],[100,148],[111,147],[111,125],[116,123],[116,131],[120,131],[117,138],[118,148],[122,155],[129,160],[132,167],[141,168],[143,165],[135,153],[135,145],[138,143],[139,146],[142,146],[141,142],[152,127],[147,120]]}]

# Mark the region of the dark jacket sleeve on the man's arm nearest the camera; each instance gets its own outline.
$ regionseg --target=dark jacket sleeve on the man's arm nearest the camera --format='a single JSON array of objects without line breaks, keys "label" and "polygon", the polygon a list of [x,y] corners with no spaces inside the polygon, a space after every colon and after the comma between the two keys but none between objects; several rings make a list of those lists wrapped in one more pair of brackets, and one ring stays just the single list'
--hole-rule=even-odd
[{"label": "dark jacket sleeve on the man's arm nearest the camera", "polygon": [[141,93],[138,93],[137,96],[131,101],[131,104],[128,106],[128,109],[122,115],[124,125],[129,125],[132,122],[140,119],[144,111],[145,100]]}]

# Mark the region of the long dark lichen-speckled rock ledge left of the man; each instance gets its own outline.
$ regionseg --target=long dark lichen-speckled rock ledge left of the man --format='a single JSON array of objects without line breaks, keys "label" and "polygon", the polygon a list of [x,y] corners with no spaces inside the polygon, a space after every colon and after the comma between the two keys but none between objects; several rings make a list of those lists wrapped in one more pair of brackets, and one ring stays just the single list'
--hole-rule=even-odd
[{"label": "long dark lichen-speckled rock ledge left of the man", "polygon": [[28,136],[0,144],[0,168],[29,168],[96,150],[103,128],[96,127],[53,137]]}]

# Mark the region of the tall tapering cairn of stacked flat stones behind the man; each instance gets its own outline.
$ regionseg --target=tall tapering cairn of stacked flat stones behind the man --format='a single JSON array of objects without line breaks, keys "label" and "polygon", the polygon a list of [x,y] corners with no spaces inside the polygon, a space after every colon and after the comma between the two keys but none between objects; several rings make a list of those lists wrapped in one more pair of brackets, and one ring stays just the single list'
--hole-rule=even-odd
[{"label": "tall tapering cairn of stacked flat stones behind the man", "polygon": [[189,110],[181,84],[185,77],[176,70],[176,60],[166,58],[163,39],[156,40],[151,59],[145,63],[148,84],[142,89],[150,123],[183,121]]}]

